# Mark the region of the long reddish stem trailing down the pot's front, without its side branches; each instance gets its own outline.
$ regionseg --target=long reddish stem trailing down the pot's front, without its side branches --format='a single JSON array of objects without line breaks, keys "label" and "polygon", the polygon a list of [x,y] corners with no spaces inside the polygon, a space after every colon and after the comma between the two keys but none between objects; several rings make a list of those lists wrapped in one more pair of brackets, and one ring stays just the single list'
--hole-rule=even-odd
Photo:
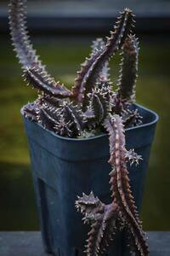
[{"label": "long reddish stem trailing down the pot's front, without its side branches", "polygon": [[127,176],[127,151],[121,117],[115,115],[112,119],[106,119],[105,128],[110,134],[111,158],[109,162],[114,166],[114,171],[111,172],[112,196],[116,199],[122,216],[126,220],[128,230],[133,236],[135,251],[141,256],[146,256],[149,255],[149,249],[144,238],[144,232],[139,221]]}]

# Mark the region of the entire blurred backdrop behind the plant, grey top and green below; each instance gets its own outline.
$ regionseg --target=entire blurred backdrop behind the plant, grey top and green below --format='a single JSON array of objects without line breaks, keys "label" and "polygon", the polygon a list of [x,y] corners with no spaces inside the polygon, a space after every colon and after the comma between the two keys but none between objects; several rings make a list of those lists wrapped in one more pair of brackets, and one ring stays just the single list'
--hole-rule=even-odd
[{"label": "entire blurred backdrop behind the plant, grey top and green below", "polygon": [[[104,37],[118,12],[133,9],[140,41],[137,101],[159,114],[144,190],[145,230],[170,230],[170,1],[28,1],[28,26],[42,61],[71,86],[94,38]],[[12,50],[7,1],[0,0],[0,230],[38,230],[29,152],[20,108],[37,93],[21,79]],[[119,55],[111,60],[116,84]]]}]

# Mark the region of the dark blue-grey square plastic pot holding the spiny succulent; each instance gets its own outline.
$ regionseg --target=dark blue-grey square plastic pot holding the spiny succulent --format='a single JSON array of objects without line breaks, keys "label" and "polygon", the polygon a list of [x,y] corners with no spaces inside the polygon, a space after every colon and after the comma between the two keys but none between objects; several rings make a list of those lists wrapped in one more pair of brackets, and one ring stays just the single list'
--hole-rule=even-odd
[{"label": "dark blue-grey square plastic pot holding the spiny succulent", "polygon": [[[134,148],[143,161],[129,168],[133,195],[141,206],[150,146],[156,130],[156,113],[136,105],[144,125],[126,130],[127,149]],[[42,241],[48,253],[56,256],[84,255],[88,226],[75,209],[77,195],[94,195],[111,201],[108,164],[109,143],[106,134],[88,139],[59,137],[41,125],[25,120],[37,208],[41,220]],[[115,253],[115,254],[114,254]],[[127,255],[123,234],[116,237],[107,255]]]}]

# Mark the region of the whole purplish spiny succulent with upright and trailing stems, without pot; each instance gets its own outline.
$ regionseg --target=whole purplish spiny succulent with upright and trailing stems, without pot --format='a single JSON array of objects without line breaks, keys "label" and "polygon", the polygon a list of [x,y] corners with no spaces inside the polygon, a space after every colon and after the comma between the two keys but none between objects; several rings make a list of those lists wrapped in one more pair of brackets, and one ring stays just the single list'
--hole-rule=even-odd
[{"label": "whole purplish spiny succulent with upright and trailing stems, without pot", "polygon": [[[38,90],[35,102],[28,103],[22,113],[45,129],[62,137],[92,137],[109,134],[112,166],[109,205],[93,192],[78,197],[76,207],[85,223],[91,224],[86,253],[101,255],[116,232],[126,230],[129,246],[136,255],[149,255],[139,214],[129,185],[127,162],[139,164],[141,157],[125,148],[124,129],[140,125],[141,117],[135,102],[139,42],[133,34],[134,15],[124,9],[108,38],[96,39],[90,56],[81,65],[71,90],[55,82],[42,65],[26,31],[26,0],[11,0],[9,4],[10,32],[14,50],[27,84]],[[122,54],[117,89],[112,90],[109,61],[119,51]]]}]

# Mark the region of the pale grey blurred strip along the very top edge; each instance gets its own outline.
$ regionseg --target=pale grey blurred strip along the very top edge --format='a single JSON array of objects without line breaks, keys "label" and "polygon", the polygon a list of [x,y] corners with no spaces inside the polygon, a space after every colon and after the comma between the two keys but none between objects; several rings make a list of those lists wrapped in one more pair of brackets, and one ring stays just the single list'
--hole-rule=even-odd
[{"label": "pale grey blurred strip along the very top edge", "polygon": [[[136,15],[167,16],[170,15],[170,1],[167,0],[28,0],[31,15],[54,16],[115,16],[125,7],[133,9]],[[7,3],[1,3],[0,14],[7,14]]]}]

